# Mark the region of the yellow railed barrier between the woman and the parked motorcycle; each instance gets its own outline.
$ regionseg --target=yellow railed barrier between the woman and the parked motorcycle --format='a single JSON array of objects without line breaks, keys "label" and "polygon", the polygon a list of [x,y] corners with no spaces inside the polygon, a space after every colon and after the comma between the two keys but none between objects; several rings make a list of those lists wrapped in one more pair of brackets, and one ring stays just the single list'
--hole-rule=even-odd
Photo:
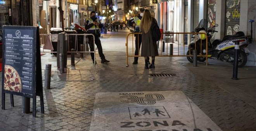
[{"label": "yellow railed barrier between the woman and the parked motorcycle", "polygon": [[[138,50],[138,55],[134,55],[133,54],[133,52],[134,52],[134,49],[133,49],[133,45],[134,45],[134,43],[133,43],[133,35],[140,35],[140,34],[142,34],[142,33],[129,33],[127,36],[126,36],[126,67],[128,67],[128,57],[140,57],[140,50]],[[162,44],[163,44],[163,42],[162,42],[162,39],[161,40],[159,40],[160,42],[159,42],[159,45],[161,45],[161,48],[160,48],[160,52],[161,53],[159,53],[159,56],[157,56],[157,57],[193,57],[193,54],[190,54],[190,39],[189,38],[187,38],[187,45],[189,46],[189,55],[187,55],[187,54],[185,54],[185,34],[187,34],[187,36],[188,35],[194,35],[194,34],[204,34],[204,35],[206,35],[207,36],[207,34],[205,34],[205,33],[199,33],[199,32],[165,32],[165,33],[163,33],[163,34],[165,34],[165,35],[171,35],[171,36],[173,36],[172,37],[172,42],[170,42],[171,44],[177,44],[178,45],[178,47],[177,48],[175,48],[175,49],[178,49],[178,52],[176,53],[176,55],[174,55],[173,53],[171,54],[170,53],[170,55],[168,55],[168,44],[166,44],[166,55],[164,55],[163,54],[163,50],[162,50]],[[162,34],[162,35],[163,35]],[[129,36],[130,35],[132,35],[132,55],[129,55],[129,53],[128,53],[128,38],[129,38]],[[180,39],[179,39],[179,37],[180,37],[180,35],[182,35],[183,36],[183,44],[182,44],[182,47],[183,47],[183,54],[180,54]],[[174,37],[176,37],[176,39],[177,39],[177,41],[174,41]],[[196,39],[198,39],[199,40],[199,37],[198,36],[196,36],[195,35],[195,40]],[[201,40],[201,39],[200,39]],[[138,40],[139,41],[139,40]],[[161,44],[160,44],[161,43]],[[170,44],[169,43],[169,44]],[[136,44],[136,43],[135,43]],[[138,44],[138,43],[137,43]],[[206,66],[208,65],[208,37],[206,37],[206,54],[205,55],[202,55],[202,40],[201,40],[201,44],[200,44],[200,53],[199,53],[199,55],[197,55],[197,57],[206,57]],[[138,46],[139,47],[139,46]],[[165,47],[164,47],[164,49],[165,49]],[[195,49],[196,49],[196,46],[195,46]],[[171,50],[172,52],[173,52],[173,48],[172,48],[172,50]]]}]

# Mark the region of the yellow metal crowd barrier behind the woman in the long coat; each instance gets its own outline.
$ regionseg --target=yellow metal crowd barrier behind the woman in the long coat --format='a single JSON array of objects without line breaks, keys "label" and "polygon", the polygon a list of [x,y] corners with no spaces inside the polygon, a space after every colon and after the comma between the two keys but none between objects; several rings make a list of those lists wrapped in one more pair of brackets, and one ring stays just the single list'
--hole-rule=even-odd
[{"label": "yellow metal crowd barrier behind the woman in the long coat", "polygon": [[[128,67],[128,57],[141,57],[140,56],[140,50],[138,51],[138,55],[134,55],[134,51],[135,51],[135,44],[139,44],[139,43],[135,43],[135,37],[134,35],[140,35],[142,33],[129,33],[126,36],[126,67]],[[168,55],[168,44],[166,44],[166,38],[165,41],[163,41],[163,34],[165,34],[165,36],[172,36],[172,39],[168,39],[168,42],[170,44],[170,51],[169,51],[169,55]],[[190,52],[190,39],[187,37],[187,45],[185,44],[185,36],[188,35],[194,35],[194,34],[205,34],[205,33],[199,33],[199,32],[164,32],[162,33],[162,39],[160,39],[157,42],[157,47],[158,47],[158,56],[156,57],[193,57],[193,54],[189,54],[187,55],[187,52],[185,52],[185,48],[188,48],[189,52]],[[207,34],[205,34],[207,36]],[[176,37],[176,41],[174,41],[174,36]],[[183,43],[180,42],[180,38],[179,37],[183,37]],[[191,38],[190,37],[190,38]],[[132,44],[129,44],[129,40],[132,40]],[[195,39],[199,39],[199,37],[195,37]],[[139,41],[139,40],[138,40]],[[206,54],[203,55],[202,54],[202,40],[201,40],[201,44],[200,44],[200,53],[199,55],[197,55],[197,57],[206,57],[206,66],[208,65],[208,37],[206,37]],[[165,45],[166,44],[166,45]],[[180,45],[181,44],[181,45]],[[159,45],[160,45],[160,50],[159,50]],[[131,46],[131,50],[128,50],[129,47]],[[142,45],[141,45],[142,46]],[[173,47],[172,47],[173,46]],[[164,52],[164,49],[166,47],[166,53]],[[173,49],[177,49],[178,52],[173,52]],[[183,50],[183,53],[180,53],[180,51]],[[195,50],[196,46],[195,46]],[[160,52],[159,52],[160,51]],[[132,53],[131,53],[132,52]]]}]

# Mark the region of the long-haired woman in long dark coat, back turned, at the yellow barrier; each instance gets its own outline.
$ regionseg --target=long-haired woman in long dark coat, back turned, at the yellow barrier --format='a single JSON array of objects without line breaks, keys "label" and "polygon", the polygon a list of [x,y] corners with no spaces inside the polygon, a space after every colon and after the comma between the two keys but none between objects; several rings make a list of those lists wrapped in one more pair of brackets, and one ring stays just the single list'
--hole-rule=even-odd
[{"label": "long-haired woman in long dark coat, back turned, at the yellow barrier", "polygon": [[[155,56],[158,55],[156,41],[152,39],[151,30],[157,24],[155,18],[151,17],[149,10],[144,10],[143,17],[140,21],[140,31],[142,32],[141,56],[145,58],[145,69],[155,68]],[[150,66],[147,57],[152,57]]]}]

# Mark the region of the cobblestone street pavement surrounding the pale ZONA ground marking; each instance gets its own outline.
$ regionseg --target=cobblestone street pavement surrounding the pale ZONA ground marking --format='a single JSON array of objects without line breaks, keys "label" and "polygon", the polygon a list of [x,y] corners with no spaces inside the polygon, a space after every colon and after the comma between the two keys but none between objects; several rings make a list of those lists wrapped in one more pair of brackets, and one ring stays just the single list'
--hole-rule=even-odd
[{"label": "cobblestone street pavement surrounding the pale ZONA ground marking", "polygon": [[[108,64],[101,64],[97,53],[94,66],[86,54],[84,59],[76,58],[75,67],[69,58],[67,73],[60,74],[56,58],[43,55],[42,74],[45,64],[52,64],[51,89],[43,89],[45,114],[40,113],[39,97],[33,118],[21,113],[20,96],[14,96],[15,107],[10,107],[7,94],[6,109],[0,111],[0,131],[89,131],[95,93],[131,91],[182,91],[224,131],[256,130],[255,67],[239,69],[239,80],[230,79],[232,65],[216,60],[209,60],[209,66],[193,67],[185,57],[156,57],[156,69],[145,70],[143,58],[138,65],[129,58],[126,67],[127,34],[128,30],[120,30],[101,39]],[[157,73],[176,76],[149,75]]]}]

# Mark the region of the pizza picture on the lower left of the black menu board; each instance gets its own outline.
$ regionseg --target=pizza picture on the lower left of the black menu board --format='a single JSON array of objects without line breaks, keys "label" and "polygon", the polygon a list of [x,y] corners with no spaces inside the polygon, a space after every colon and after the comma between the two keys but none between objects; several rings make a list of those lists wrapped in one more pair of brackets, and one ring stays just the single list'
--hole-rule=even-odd
[{"label": "pizza picture on the lower left of the black menu board", "polygon": [[18,72],[12,66],[4,66],[4,86],[8,91],[21,92],[21,78]]}]

